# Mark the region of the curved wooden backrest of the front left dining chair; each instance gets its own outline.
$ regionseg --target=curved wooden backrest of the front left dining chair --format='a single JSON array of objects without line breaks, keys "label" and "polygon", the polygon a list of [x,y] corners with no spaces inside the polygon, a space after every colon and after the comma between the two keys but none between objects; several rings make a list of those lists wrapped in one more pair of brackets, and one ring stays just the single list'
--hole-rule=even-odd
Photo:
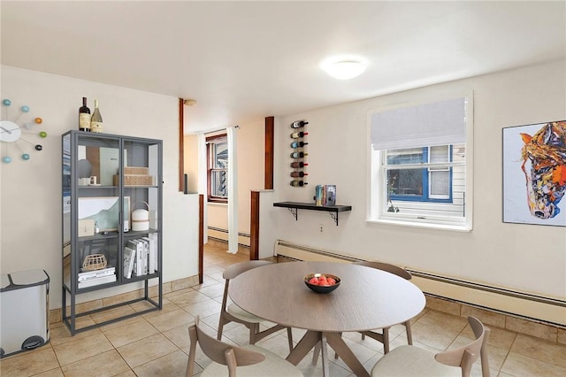
[{"label": "curved wooden backrest of the front left dining chair", "polygon": [[196,343],[212,361],[226,365],[230,377],[236,375],[236,366],[254,365],[265,359],[265,356],[259,352],[220,342],[206,334],[199,326],[199,316],[195,317],[195,325],[188,327],[188,335],[191,345],[188,352],[187,377],[192,377],[194,373]]}]

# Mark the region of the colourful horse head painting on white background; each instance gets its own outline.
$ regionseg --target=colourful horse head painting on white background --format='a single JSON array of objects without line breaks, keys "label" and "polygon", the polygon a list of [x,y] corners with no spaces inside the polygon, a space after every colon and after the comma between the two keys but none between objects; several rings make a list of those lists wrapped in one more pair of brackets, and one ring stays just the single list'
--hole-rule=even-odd
[{"label": "colourful horse head painting on white background", "polygon": [[503,128],[503,222],[566,227],[566,120]]}]

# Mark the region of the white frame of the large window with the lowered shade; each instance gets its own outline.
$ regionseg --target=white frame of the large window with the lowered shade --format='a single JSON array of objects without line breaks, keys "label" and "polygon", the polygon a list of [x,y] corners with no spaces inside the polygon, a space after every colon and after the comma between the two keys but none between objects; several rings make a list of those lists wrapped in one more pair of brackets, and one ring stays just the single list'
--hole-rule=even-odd
[{"label": "white frame of the large window with the lowered shade", "polygon": [[[371,115],[376,112],[387,112],[390,110],[410,108],[421,104],[432,104],[454,98],[465,98],[465,128],[466,143],[465,155],[465,203],[464,217],[461,219],[448,218],[445,216],[418,216],[415,214],[387,211],[387,192],[382,182],[386,181],[386,170],[382,168],[385,153],[373,150],[371,145]],[[372,109],[368,112],[368,196],[366,204],[366,221],[371,223],[391,224],[406,227],[427,227],[446,230],[470,232],[473,225],[473,93],[471,91],[437,96],[424,101],[411,101],[397,106],[384,106]],[[402,148],[400,148],[402,149]],[[430,154],[429,154],[430,158]],[[439,163],[439,166],[457,165],[461,162],[453,161],[448,164]],[[430,184],[430,179],[429,179]]]}]

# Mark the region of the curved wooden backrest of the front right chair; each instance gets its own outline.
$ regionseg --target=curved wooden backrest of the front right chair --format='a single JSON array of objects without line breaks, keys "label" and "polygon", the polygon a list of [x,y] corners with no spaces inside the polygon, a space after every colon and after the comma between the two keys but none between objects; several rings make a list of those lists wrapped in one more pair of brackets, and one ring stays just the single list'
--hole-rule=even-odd
[{"label": "curved wooden backrest of the front right chair", "polygon": [[470,327],[476,335],[475,341],[455,350],[445,350],[434,356],[439,363],[461,367],[463,377],[470,375],[471,365],[478,360],[486,337],[486,327],[478,319],[468,317],[468,323],[470,323]]}]

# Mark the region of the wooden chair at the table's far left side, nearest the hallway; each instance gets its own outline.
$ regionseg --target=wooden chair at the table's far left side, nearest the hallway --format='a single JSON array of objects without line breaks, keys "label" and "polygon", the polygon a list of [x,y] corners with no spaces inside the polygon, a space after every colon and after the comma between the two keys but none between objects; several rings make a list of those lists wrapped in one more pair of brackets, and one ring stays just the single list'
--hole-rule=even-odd
[{"label": "wooden chair at the table's far left side, nearest the hallway", "polygon": [[[218,323],[218,341],[222,340],[222,332],[224,325],[229,322],[238,322],[249,328],[249,344],[256,344],[257,341],[263,339],[267,335],[271,335],[283,328],[287,328],[287,342],[289,342],[289,352],[293,350],[293,335],[291,332],[291,327],[284,327],[282,325],[275,325],[269,327],[264,331],[259,330],[260,322],[264,319],[256,317],[250,312],[246,312],[241,309],[240,306],[228,303],[228,286],[230,285],[230,280],[238,276],[240,273],[244,273],[252,268],[256,268],[262,265],[270,265],[272,262],[267,260],[249,260],[245,262],[236,263],[234,265],[226,268],[222,277],[226,280],[224,286],[224,296],[222,297],[222,307],[220,308],[220,320]],[[261,281],[258,281],[261,284]]]}]

